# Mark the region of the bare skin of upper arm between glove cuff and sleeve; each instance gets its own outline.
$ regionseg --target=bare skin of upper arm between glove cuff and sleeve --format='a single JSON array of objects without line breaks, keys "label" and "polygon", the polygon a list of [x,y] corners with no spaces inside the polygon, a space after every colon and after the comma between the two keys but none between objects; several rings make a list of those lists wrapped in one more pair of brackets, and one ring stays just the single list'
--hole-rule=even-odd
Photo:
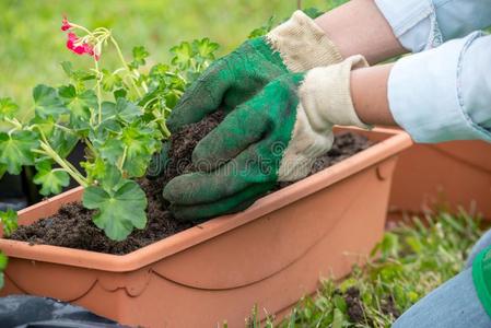
[{"label": "bare skin of upper arm between glove cuff and sleeve", "polygon": [[344,58],[361,54],[373,65],[407,52],[373,0],[352,0],[315,22]]}]

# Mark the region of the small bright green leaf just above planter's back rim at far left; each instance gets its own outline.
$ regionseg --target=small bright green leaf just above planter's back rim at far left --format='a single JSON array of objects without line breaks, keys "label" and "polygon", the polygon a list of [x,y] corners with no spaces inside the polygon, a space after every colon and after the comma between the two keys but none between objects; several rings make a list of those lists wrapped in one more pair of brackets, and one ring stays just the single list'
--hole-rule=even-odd
[{"label": "small bright green leaf just above planter's back rim at far left", "polygon": [[39,192],[44,196],[50,194],[60,194],[63,187],[70,184],[70,176],[61,168],[52,169],[49,162],[42,162],[36,165],[37,174],[34,176],[33,181],[36,185],[40,185]]}]

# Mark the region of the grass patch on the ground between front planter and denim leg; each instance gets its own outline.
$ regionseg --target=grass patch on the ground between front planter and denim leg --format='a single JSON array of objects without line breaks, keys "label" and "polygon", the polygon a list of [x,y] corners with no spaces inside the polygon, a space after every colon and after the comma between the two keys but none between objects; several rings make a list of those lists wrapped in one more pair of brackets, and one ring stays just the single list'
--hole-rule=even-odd
[{"label": "grass patch on the ground between front planter and denim leg", "polygon": [[325,280],[315,297],[305,297],[279,324],[258,321],[253,311],[248,327],[390,327],[421,297],[464,267],[482,230],[466,213],[440,213],[412,219],[387,232],[364,268],[343,281]]}]

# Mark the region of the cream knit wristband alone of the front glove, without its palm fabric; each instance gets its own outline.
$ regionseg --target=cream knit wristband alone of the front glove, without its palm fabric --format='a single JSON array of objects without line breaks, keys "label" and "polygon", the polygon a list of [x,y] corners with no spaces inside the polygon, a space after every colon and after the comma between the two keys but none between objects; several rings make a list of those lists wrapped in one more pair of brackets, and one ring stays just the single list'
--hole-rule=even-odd
[{"label": "cream knit wristband alone of the front glove, without its palm fabric", "polygon": [[332,125],[371,129],[358,117],[350,87],[351,71],[367,66],[365,58],[356,55],[306,73],[299,94],[314,130],[329,130]]}]

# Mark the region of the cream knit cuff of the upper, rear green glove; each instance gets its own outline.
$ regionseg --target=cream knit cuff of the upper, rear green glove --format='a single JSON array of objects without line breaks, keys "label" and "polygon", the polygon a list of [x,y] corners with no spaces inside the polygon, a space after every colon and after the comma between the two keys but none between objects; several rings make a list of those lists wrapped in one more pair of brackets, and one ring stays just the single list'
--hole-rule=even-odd
[{"label": "cream knit cuff of the upper, rear green glove", "polygon": [[300,10],[269,32],[266,39],[292,72],[304,72],[342,61],[341,54],[324,31]]}]

